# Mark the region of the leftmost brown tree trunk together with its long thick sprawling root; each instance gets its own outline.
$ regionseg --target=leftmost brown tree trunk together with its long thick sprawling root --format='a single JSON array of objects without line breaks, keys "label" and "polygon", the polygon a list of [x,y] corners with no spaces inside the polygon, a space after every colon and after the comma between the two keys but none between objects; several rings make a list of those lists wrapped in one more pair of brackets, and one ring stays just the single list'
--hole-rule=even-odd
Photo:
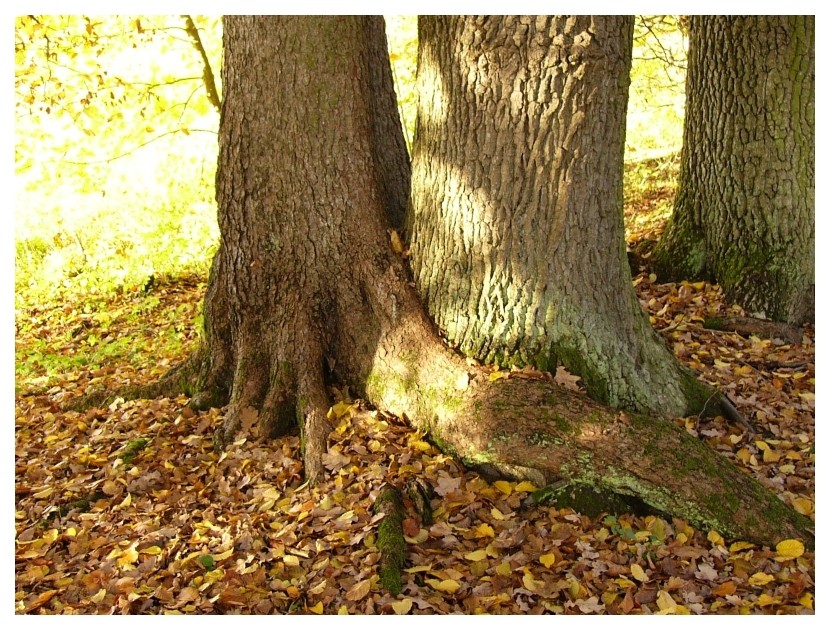
[{"label": "leftmost brown tree trunk together with its long thick sprawling root", "polygon": [[446,349],[386,233],[397,197],[382,192],[372,117],[394,102],[369,94],[370,66],[388,63],[380,18],[228,17],[224,37],[222,241],[205,343],[185,364],[195,404],[229,397],[220,438],[254,418],[270,434],[299,421],[316,479],[331,378],[467,463],[643,496],[726,535],[810,539],[808,521],[673,424],[546,381],[491,382]]}]

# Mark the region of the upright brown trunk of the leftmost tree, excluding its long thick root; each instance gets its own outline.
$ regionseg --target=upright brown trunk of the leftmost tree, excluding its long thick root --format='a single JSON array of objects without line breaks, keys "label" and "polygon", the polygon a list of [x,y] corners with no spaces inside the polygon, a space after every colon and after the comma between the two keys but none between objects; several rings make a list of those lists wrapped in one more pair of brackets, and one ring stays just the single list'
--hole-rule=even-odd
[{"label": "upright brown trunk of the leftmost tree, excluding its long thick root", "polygon": [[397,121],[393,93],[374,94],[391,84],[372,71],[387,54],[382,29],[380,19],[347,17],[224,25],[222,238],[198,397],[229,393],[226,437],[252,410],[266,434],[299,418],[310,478],[325,449],[325,371],[368,371],[377,331],[363,285],[389,266],[381,239],[408,190],[402,140],[403,161],[379,167]]}]

